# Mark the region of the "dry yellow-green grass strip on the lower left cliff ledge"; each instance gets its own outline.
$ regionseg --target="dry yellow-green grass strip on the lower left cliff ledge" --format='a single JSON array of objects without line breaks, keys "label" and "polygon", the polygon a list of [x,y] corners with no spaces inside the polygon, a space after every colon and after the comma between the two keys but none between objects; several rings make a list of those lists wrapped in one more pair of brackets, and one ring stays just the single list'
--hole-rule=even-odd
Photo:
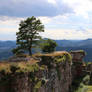
[{"label": "dry yellow-green grass strip on the lower left cliff ledge", "polygon": [[38,61],[34,59],[28,62],[1,62],[0,73],[33,72],[39,69],[37,62]]}]

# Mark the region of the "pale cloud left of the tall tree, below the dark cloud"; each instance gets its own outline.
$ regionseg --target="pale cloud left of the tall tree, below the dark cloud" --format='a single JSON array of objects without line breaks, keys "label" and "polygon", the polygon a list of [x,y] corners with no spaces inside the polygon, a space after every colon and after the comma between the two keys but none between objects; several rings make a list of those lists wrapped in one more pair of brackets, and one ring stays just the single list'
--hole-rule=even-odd
[{"label": "pale cloud left of the tall tree, below the dark cloud", "polygon": [[23,18],[0,17],[0,40],[15,40],[18,25]]}]

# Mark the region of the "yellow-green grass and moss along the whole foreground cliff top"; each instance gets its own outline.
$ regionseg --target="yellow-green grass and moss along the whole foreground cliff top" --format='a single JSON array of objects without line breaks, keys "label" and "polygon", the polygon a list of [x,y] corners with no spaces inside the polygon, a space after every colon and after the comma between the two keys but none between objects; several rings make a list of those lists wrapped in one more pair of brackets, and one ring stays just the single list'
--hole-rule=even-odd
[{"label": "yellow-green grass and moss along the whole foreground cliff top", "polygon": [[[24,55],[25,56],[25,55]],[[21,56],[22,57],[22,56]],[[28,56],[27,56],[28,57]],[[34,54],[32,56],[33,58],[38,57],[51,57],[54,58],[52,63],[60,63],[62,61],[72,61],[72,57],[68,52],[53,52],[49,54]],[[39,62],[39,59],[32,59],[27,62],[1,62],[0,63],[0,73],[3,72],[5,74],[7,73],[17,73],[17,72],[34,72],[35,70],[41,69],[37,62]],[[51,62],[51,60],[48,60]],[[46,61],[43,61],[46,62]]]}]

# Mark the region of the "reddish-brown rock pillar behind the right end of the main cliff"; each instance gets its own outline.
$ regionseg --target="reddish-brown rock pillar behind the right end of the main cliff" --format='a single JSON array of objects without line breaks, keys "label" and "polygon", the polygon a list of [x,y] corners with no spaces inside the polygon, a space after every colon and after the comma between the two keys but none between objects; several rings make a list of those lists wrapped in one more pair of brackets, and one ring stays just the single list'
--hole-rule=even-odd
[{"label": "reddish-brown rock pillar behind the right end of the main cliff", "polygon": [[70,52],[72,56],[72,78],[79,77],[83,75],[83,70],[85,70],[85,62],[83,58],[85,57],[85,51],[76,50]]}]

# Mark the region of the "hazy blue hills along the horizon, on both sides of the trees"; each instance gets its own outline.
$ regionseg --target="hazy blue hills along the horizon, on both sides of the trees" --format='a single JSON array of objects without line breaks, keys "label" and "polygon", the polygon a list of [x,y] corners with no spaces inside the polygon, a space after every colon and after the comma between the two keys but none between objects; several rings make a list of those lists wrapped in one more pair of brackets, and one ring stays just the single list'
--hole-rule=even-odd
[{"label": "hazy blue hills along the horizon, on both sides of the trees", "polygon": [[[85,50],[85,61],[92,61],[92,39],[86,40],[55,40],[58,44],[56,50]],[[16,47],[16,41],[0,41],[0,60],[12,56],[11,50]]]}]

